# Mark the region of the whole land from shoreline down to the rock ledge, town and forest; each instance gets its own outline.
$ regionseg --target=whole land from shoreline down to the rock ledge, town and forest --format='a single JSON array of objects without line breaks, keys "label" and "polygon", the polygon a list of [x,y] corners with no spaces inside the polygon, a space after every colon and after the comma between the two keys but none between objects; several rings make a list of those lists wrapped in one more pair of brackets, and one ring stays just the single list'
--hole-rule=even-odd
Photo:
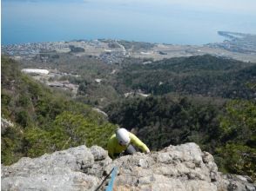
[{"label": "whole land from shoreline down to the rock ledge, town and forest", "polygon": [[153,151],[196,142],[220,171],[255,180],[255,36],[221,34],[231,40],[2,46],[2,118],[12,124],[2,132],[3,163],[85,143],[105,148],[121,126]]}]

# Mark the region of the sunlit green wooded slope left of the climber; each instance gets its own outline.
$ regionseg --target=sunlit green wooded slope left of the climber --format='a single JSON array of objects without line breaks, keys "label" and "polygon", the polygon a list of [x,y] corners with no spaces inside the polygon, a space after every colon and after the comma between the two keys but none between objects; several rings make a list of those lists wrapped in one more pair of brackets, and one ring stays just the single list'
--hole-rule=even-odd
[{"label": "sunlit green wooded slope left of the climber", "polygon": [[1,70],[1,117],[14,123],[2,129],[4,164],[85,143],[105,148],[116,127],[104,116],[22,74],[8,57]]}]

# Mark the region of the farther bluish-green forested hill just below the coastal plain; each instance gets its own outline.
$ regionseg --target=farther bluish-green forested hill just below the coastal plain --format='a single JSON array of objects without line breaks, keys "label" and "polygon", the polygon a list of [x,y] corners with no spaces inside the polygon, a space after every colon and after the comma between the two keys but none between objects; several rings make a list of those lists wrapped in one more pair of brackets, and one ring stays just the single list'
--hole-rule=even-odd
[{"label": "farther bluish-green forested hill just below the coastal plain", "polygon": [[172,58],[148,64],[126,64],[118,73],[117,89],[122,86],[145,93],[169,92],[219,96],[255,97],[248,85],[255,83],[256,64],[243,63],[210,55]]}]

